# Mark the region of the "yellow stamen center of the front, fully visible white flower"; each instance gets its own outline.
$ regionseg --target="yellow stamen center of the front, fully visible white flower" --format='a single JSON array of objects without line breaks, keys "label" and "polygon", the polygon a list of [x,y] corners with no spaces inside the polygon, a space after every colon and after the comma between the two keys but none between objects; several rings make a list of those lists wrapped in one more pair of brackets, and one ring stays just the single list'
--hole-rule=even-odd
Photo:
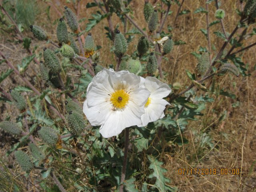
[{"label": "yellow stamen center of the front, fully visible white flower", "polygon": [[117,90],[111,94],[110,101],[114,109],[124,109],[128,104],[129,94],[123,89]]}]

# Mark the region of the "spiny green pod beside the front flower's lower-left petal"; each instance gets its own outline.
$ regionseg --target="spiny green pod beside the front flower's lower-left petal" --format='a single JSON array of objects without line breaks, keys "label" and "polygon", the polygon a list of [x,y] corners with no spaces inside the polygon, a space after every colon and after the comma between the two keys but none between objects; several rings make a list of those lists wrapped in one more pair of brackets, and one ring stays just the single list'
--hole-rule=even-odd
[{"label": "spiny green pod beside the front flower's lower-left petal", "polygon": [[84,120],[84,117],[82,113],[78,112],[68,112],[68,124],[70,127],[70,132],[78,136],[82,131],[84,130],[86,126],[86,121]]}]

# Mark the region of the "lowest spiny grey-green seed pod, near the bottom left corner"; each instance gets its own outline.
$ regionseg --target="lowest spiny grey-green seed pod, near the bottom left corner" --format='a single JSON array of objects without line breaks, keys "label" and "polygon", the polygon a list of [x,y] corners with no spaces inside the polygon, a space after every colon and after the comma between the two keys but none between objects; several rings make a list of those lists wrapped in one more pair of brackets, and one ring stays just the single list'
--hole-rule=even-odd
[{"label": "lowest spiny grey-green seed pod, near the bottom left corner", "polygon": [[30,157],[25,152],[21,150],[15,151],[14,156],[19,166],[23,171],[26,171],[26,173],[29,173],[34,167],[34,164],[30,161]]}]

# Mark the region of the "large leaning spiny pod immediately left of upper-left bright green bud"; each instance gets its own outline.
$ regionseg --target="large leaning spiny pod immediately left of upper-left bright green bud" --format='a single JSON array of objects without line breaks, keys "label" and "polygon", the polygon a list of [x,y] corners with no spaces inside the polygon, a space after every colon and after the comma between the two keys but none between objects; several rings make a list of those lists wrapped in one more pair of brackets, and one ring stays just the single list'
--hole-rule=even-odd
[{"label": "large leaning spiny pod immediately left of upper-left bright green bud", "polygon": [[50,72],[58,73],[61,70],[58,58],[47,48],[44,48],[44,64],[50,69]]}]

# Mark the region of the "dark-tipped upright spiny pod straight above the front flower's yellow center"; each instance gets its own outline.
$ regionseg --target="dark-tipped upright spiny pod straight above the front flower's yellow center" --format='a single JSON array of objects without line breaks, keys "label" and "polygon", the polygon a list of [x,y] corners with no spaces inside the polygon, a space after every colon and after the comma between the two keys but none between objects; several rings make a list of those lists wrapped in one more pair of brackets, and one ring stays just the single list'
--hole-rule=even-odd
[{"label": "dark-tipped upright spiny pod straight above the front flower's yellow center", "polygon": [[118,55],[123,55],[127,51],[126,38],[119,30],[116,30],[116,36],[114,39],[114,47],[115,47],[115,52]]}]

